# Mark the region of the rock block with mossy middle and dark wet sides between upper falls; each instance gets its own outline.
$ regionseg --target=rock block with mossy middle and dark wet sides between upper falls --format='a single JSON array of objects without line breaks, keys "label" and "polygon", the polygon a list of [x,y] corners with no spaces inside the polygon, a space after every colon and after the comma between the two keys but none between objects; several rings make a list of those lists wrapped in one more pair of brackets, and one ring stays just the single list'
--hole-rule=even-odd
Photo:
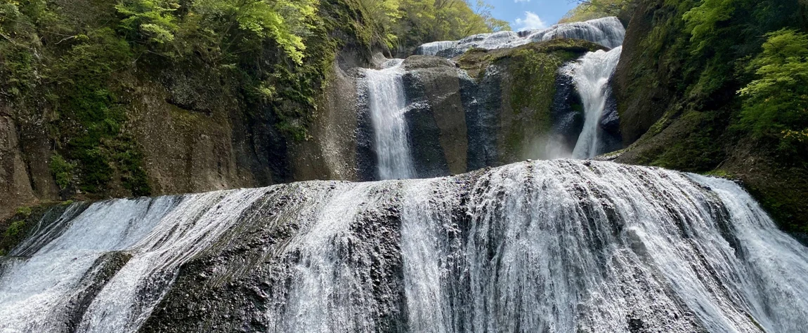
[{"label": "rock block with mossy middle and dark wet sides between upper falls", "polygon": [[[465,105],[472,108],[467,123],[481,136],[469,144],[469,167],[554,157],[558,136],[573,137],[577,125],[566,119],[574,118],[570,110],[560,110],[574,108],[577,96],[571,84],[558,78],[558,69],[601,48],[581,40],[550,40],[512,49],[473,49],[462,56],[458,63],[477,82],[476,91],[465,94]],[[570,129],[553,128],[559,126]]]}]

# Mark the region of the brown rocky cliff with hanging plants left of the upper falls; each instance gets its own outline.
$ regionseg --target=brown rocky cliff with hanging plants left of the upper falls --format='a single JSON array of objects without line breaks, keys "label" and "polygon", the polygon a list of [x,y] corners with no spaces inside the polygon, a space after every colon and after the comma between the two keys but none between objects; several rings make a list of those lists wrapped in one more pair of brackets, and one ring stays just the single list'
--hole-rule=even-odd
[{"label": "brown rocky cliff with hanging plants left of the upper falls", "polygon": [[[0,57],[0,216],[37,202],[356,178],[346,71],[381,48],[358,2],[319,2],[300,64],[271,42],[230,54],[193,36],[187,53],[155,54],[123,41],[113,2],[37,3],[5,9],[26,24],[2,22],[12,39]],[[69,38],[53,40],[56,27]]]}]

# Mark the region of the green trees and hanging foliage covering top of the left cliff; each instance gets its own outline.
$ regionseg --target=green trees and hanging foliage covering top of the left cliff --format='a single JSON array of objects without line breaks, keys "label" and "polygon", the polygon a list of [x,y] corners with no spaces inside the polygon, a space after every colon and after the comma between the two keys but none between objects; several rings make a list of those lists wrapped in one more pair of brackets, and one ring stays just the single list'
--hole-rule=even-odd
[{"label": "green trees and hanging foliage covering top of the left cliff", "polygon": [[244,112],[234,117],[268,119],[284,139],[305,140],[341,50],[361,64],[385,43],[506,26],[482,2],[455,0],[2,2],[0,113],[44,128],[54,152],[29,163],[49,164],[63,198],[149,195],[130,122],[144,85],[221,94],[166,98],[200,114],[211,112],[205,100],[232,96]]}]

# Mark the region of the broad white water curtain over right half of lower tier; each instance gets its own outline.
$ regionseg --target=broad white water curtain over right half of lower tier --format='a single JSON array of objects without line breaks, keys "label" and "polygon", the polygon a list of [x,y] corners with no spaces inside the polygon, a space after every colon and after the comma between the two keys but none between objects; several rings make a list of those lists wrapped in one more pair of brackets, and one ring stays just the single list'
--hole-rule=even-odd
[{"label": "broad white water curtain over right half of lower tier", "polygon": [[463,233],[446,185],[406,192],[413,331],[808,331],[808,249],[730,181],[511,164],[470,189]]}]

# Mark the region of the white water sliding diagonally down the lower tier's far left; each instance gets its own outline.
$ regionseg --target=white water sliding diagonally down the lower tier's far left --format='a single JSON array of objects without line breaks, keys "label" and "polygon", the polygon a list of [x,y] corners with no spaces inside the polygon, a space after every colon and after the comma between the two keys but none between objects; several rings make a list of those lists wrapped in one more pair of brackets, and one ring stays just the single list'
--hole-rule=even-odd
[{"label": "white water sliding diagonally down the lower tier's far left", "polygon": [[6,268],[0,277],[0,331],[57,331],[69,302],[87,286],[82,277],[112,251],[133,257],[96,295],[77,330],[136,331],[179,265],[217,239],[265,190],[93,204],[31,258]]}]

